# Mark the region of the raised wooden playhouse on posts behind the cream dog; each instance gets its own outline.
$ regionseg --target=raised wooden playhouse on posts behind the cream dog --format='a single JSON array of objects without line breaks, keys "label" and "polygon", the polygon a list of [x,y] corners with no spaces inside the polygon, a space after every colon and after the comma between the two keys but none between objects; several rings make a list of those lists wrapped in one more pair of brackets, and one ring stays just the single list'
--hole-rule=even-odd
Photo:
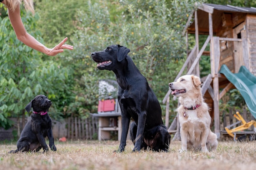
[{"label": "raised wooden playhouse on posts behind the cream dog", "polygon": [[[194,34],[195,46],[191,51],[188,51],[186,62],[174,81],[184,73],[200,76],[200,57],[209,55],[210,74],[205,77],[200,76],[202,93],[211,107],[210,115],[214,120],[214,132],[220,138],[219,100],[231,88],[237,88],[238,86],[235,86],[237,82],[243,83],[244,78],[252,77],[253,79],[251,83],[245,83],[241,88],[250,95],[248,99],[243,96],[246,103],[248,102],[247,106],[256,108],[256,8],[201,4],[189,16],[183,34],[186,35],[187,43],[188,35]],[[201,49],[199,47],[199,35],[208,35]],[[208,44],[210,51],[205,51]],[[222,68],[224,67],[222,65],[227,69]],[[236,73],[240,73],[241,66],[247,70],[247,74],[250,76],[236,76]],[[185,69],[187,70],[184,71]],[[228,75],[233,79],[233,83],[228,79]],[[249,90],[245,89],[244,86],[249,86]],[[166,105],[168,105],[170,93],[169,90],[163,99],[163,103]],[[168,107],[166,108],[166,116],[168,117]],[[254,109],[250,109],[250,112],[256,117]],[[179,134],[177,122],[176,116],[171,126],[167,127],[170,133],[176,132],[175,136]]]}]

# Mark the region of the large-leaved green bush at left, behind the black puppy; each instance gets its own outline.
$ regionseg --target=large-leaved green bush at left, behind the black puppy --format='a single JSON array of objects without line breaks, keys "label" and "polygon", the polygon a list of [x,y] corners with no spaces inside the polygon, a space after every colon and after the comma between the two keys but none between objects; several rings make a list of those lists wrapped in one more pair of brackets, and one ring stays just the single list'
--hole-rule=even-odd
[{"label": "large-leaved green bush at left, behind the black puppy", "polygon": [[[27,31],[41,40],[40,32],[34,31],[38,15],[31,16],[22,9],[21,16]],[[8,17],[0,20],[0,30],[0,126],[8,128],[11,122],[7,117],[25,113],[25,106],[36,95],[58,98],[68,72],[52,61],[43,62],[38,52],[22,44]]]}]

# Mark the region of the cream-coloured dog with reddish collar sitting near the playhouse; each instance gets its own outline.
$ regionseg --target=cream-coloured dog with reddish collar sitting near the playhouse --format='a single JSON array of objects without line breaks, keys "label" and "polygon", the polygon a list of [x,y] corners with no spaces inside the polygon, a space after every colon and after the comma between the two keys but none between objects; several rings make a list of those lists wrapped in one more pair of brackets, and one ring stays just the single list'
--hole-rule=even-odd
[{"label": "cream-coloured dog with reddish collar sitting near the playhouse", "polygon": [[216,150],[217,135],[211,132],[211,116],[208,106],[201,93],[200,78],[195,75],[184,75],[177,82],[169,83],[171,94],[179,97],[180,106],[177,108],[180,121],[182,148],[208,152]]}]

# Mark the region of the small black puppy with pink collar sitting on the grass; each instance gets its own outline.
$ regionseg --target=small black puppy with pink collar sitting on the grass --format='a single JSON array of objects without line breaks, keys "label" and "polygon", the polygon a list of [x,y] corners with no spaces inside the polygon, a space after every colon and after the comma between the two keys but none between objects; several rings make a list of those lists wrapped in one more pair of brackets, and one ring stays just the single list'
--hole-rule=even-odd
[{"label": "small black puppy with pink collar sitting on the grass", "polygon": [[25,107],[27,112],[33,108],[31,121],[27,122],[20,134],[20,139],[17,143],[18,149],[11,150],[9,153],[38,152],[41,148],[43,148],[44,152],[48,151],[48,146],[45,143],[46,136],[49,139],[49,146],[51,150],[57,150],[54,145],[54,138],[52,135],[52,119],[47,114],[51,105],[51,100],[49,100],[45,95],[38,95],[31,100],[29,104],[27,104]]}]

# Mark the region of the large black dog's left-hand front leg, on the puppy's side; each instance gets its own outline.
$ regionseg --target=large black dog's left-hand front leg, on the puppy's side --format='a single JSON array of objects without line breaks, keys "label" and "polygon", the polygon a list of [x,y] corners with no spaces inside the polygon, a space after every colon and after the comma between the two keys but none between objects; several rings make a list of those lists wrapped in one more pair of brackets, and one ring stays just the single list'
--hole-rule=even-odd
[{"label": "large black dog's left-hand front leg, on the puppy's side", "polygon": [[126,146],[126,139],[127,139],[127,134],[129,130],[129,124],[130,124],[130,117],[127,116],[128,113],[122,113],[122,133],[121,133],[121,141],[120,145],[118,148],[118,152],[123,152],[124,148]]}]

